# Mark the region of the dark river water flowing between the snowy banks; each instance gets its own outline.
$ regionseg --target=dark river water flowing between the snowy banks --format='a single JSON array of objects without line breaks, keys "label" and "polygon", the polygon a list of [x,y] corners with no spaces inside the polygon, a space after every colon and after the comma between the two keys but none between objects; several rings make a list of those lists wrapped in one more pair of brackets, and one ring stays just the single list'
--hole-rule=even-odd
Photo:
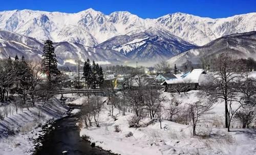
[{"label": "dark river water flowing between the snowy banks", "polygon": [[61,155],[63,151],[68,151],[68,155],[73,154],[112,154],[97,147],[91,147],[90,142],[83,140],[79,136],[79,129],[75,126],[76,117],[67,117],[57,120],[49,134],[42,141],[42,147],[37,150],[36,155]]}]

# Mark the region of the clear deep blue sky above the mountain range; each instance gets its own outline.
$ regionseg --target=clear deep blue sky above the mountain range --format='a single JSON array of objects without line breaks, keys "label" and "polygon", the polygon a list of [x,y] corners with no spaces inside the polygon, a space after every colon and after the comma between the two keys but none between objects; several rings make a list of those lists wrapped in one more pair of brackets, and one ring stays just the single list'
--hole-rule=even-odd
[{"label": "clear deep blue sky above the mountain range", "polygon": [[0,11],[32,9],[75,13],[88,8],[110,14],[129,11],[142,18],[183,12],[219,18],[256,12],[256,0],[1,0]]}]

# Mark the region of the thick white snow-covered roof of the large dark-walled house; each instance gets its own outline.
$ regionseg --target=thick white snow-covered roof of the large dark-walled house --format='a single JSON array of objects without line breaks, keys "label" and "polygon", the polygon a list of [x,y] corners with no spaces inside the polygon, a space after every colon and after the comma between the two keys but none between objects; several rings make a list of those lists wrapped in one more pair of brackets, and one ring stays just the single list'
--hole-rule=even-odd
[{"label": "thick white snow-covered roof of the large dark-walled house", "polygon": [[205,75],[206,72],[203,69],[194,69],[193,71],[185,74],[186,76],[181,76],[180,78],[177,78],[177,79],[165,80],[163,83],[166,83],[166,84],[199,83],[200,78],[202,77],[202,75]]}]

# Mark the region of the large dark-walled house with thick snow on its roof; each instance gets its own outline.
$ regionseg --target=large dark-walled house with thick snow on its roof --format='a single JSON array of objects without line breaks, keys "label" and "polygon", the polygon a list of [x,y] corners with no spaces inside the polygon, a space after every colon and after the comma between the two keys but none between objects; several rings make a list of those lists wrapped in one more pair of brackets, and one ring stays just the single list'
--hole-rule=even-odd
[{"label": "large dark-walled house with thick snow on its roof", "polygon": [[198,90],[200,82],[205,79],[206,72],[203,69],[195,69],[181,75],[177,79],[165,80],[161,85],[165,86],[166,92],[187,92]]}]

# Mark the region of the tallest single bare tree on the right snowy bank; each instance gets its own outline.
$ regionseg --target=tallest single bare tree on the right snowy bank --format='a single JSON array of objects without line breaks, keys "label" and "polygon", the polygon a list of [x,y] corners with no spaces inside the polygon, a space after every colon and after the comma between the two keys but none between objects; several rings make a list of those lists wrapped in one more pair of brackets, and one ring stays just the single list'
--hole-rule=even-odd
[{"label": "tallest single bare tree on the right snowy bank", "polygon": [[[229,131],[229,120],[232,119],[229,112],[232,112],[231,105],[237,100],[236,80],[243,76],[237,72],[238,65],[227,53],[221,54],[215,60],[215,72],[208,76],[208,82],[202,83],[205,92],[210,96],[212,102],[218,99],[224,100],[225,103],[225,127]],[[229,115],[230,114],[230,115]]]}]

